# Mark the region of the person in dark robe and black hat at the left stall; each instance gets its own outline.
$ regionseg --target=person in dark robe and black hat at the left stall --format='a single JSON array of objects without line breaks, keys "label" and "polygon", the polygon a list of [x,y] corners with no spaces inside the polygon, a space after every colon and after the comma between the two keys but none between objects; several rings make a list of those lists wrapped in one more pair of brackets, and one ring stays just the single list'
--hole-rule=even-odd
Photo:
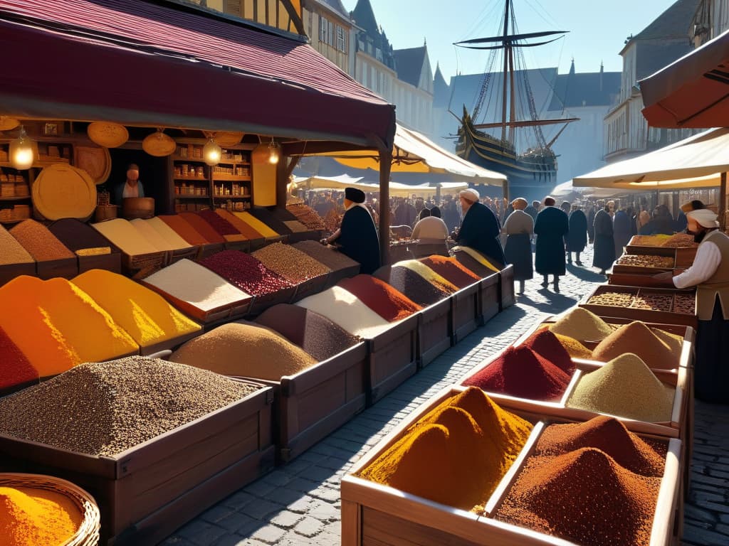
[{"label": "person in dark robe and black hat at the left stall", "polygon": [[346,188],[344,207],[341,227],[321,242],[336,243],[341,253],[359,262],[360,272],[373,274],[380,267],[380,237],[370,210],[364,205],[364,191]]}]

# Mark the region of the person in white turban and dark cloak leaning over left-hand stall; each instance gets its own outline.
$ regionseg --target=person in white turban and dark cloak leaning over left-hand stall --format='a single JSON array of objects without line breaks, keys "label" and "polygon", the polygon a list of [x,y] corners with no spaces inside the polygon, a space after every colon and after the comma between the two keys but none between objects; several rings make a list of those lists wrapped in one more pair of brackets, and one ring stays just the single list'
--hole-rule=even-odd
[{"label": "person in white turban and dark cloak leaning over left-hand stall", "polygon": [[479,202],[480,197],[480,194],[471,188],[459,192],[463,221],[459,231],[451,235],[459,245],[474,248],[491,258],[491,261],[504,264],[504,249],[499,241],[501,232],[499,218],[496,218],[490,208]]}]

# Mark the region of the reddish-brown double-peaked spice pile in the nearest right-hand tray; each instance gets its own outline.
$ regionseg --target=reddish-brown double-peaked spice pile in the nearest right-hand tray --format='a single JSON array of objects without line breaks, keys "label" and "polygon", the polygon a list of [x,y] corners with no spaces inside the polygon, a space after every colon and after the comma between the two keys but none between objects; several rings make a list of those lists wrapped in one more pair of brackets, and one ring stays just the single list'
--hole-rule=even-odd
[{"label": "reddish-brown double-peaked spice pile in the nearest right-hand tray", "polygon": [[577,544],[648,544],[659,452],[614,419],[550,425],[494,517]]}]

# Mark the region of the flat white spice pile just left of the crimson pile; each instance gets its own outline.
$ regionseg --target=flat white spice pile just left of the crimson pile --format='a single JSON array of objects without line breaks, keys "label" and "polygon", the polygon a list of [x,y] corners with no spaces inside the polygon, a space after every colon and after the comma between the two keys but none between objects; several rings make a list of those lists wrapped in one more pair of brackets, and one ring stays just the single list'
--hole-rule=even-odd
[{"label": "flat white spice pile just left of the crimson pile", "polygon": [[149,275],[144,282],[204,312],[252,297],[210,269],[187,258]]}]

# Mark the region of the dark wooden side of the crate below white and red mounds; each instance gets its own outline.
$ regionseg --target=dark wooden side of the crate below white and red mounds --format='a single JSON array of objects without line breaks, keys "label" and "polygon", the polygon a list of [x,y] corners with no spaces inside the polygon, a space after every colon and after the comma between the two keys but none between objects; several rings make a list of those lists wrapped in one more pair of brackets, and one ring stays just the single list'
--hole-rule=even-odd
[{"label": "dark wooden side of the crate below white and red mounds", "polygon": [[418,314],[367,339],[370,373],[367,405],[380,400],[418,370]]}]

